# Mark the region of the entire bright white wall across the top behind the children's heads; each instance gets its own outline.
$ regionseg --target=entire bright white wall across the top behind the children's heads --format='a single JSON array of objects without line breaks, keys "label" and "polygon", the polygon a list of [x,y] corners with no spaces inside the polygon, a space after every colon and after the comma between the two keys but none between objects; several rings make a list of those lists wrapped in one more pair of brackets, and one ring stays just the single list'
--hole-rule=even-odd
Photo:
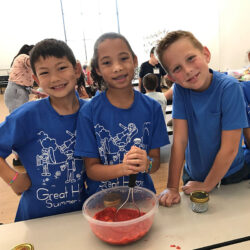
[{"label": "entire bright white wall across the top behind the children's heads", "polygon": [[[115,0],[62,2],[68,44],[77,59],[84,62],[84,33],[90,60],[96,38],[103,32],[117,32]],[[163,29],[184,29],[193,32],[209,48],[212,54],[211,68],[226,70],[247,65],[250,0],[117,2],[121,33],[128,38],[138,55],[139,64],[149,58],[148,51],[143,47],[145,37]],[[5,1],[1,4],[0,23],[0,69],[9,67],[24,43],[33,44],[47,37],[64,39],[59,0]]]}]

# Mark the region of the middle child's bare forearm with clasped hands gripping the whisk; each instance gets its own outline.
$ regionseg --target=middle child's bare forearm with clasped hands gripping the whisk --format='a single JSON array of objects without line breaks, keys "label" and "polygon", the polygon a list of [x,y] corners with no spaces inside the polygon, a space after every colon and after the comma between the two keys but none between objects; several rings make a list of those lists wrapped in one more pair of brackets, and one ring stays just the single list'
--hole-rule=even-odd
[{"label": "middle child's bare forearm with clasped hands gripping the whisk", "polygon": [[124,156],[123,162],[116,165],[103,165],[99,158],[84,158],[84,160],[88,177],[95,181],[107,181],[137,174],[148,168],[146,151],[137,147],[132,147]]}]

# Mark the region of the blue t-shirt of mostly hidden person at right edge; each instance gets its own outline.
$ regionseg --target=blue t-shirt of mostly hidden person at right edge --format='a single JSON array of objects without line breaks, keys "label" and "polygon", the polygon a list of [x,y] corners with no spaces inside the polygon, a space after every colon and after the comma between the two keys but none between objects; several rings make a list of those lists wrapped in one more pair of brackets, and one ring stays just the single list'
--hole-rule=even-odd
[{"label": "blue t-shirt of mostly hidden person at right edge", "polygon": [[[250,81],[241,82],[240,85],[244,93],[244,98],[246,102],[246,113],[247,113],[247,118],[248,118],[248,127],[250,127]],[[245,145],[243,146],[243,149],[244,149],[245,162],[248,165],[250,165],[250,149],[248,148],[246,141],[245,141]]]}]

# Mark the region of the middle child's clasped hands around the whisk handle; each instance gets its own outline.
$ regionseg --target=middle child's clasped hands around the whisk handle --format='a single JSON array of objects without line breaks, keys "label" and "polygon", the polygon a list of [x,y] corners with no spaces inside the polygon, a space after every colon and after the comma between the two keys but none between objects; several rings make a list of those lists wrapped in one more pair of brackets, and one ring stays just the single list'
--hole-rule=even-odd
[{"label": "middle child's clasped hands around the whisk handle", "polygon": [[147,153],[136,146],[132,146],[123,159],[125,175],[144,172],[148,168]]}]

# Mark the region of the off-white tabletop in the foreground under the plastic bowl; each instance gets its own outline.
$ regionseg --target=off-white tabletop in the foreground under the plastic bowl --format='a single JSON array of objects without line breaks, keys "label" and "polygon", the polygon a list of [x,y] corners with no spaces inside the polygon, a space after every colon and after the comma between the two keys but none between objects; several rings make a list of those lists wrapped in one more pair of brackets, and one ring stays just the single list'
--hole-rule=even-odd
[{"label": "off-white tabletop in the foreground under the plastic bowl", "polygon": [[[182,194],[180,204],[171,208],[160,207],[149,233],[141,240],[125,247],[112,246],[100,241],[91,232],[81,212],[50,216],[0,226],[0,249],[10,250],[25,242],[35,250],[56,249],[171,249],[175,244],[194,249],[250,235],[249,181],[221,186],[210,194],[209,209],[194,213],[189,196]],[[223,248],[250,249],[250,242]]]}]

